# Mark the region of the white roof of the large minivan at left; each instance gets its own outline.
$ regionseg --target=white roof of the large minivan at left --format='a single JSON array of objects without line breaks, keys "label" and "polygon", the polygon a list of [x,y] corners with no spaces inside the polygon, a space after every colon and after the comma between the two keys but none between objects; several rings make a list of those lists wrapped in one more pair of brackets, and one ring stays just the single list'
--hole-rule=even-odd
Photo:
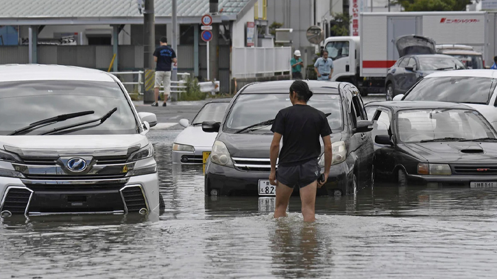
[{"label": "white roof of the large minivan at left", "polygon": [[41,64],[0,65],[0,82],[19,82],[33,80],[115,82],[112,78],[112,75],[104,71],[77,66]]}]

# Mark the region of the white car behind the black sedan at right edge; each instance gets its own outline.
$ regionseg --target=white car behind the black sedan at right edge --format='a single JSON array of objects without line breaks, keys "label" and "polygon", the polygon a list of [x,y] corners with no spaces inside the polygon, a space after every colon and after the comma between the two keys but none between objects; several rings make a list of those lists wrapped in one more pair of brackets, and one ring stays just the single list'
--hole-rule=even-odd
[{"label": "white car behind the black sedan at right edge", "polygon": [[460,70],[432,73],[398,101],[448,101],[478,110],[497,129],[497,71]]}]

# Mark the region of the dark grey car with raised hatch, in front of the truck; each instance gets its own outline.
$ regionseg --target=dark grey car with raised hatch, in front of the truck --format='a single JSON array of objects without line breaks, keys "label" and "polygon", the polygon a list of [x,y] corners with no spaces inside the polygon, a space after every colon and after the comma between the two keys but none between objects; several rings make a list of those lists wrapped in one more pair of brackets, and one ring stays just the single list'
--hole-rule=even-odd
[{"label": "dark grey car with raised hatch, in front of the truck", "polygon": [[465,69],[452,56],[435,54],[435,42],[422,36],[402,36],[396,40],[400,58],[387,71],[386,99],[405,94],[416,82],[436,71]]}]

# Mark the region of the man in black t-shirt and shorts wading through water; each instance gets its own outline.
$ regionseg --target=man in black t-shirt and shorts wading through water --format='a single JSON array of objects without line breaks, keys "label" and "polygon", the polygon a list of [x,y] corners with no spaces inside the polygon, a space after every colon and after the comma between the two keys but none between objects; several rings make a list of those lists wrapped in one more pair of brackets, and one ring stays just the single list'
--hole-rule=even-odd
[{"label": "man in black t-shirt and shorts wading through water", "polygon": [[[304,221],[314,221],[317,187],[320,188],[328,180],[332,156],[331,129],[326,114],[307,105],[312,95],[306,82],[295,80],[290,86],[290,101],[293,106],[280,110],[271,128],[274,136],[270,148],[269,182],[276,186],[275,218],[287,216],[291,193],[298,186]],[[318,182],[320,136],[324,143],[324,181]],[[280,151],[281,138],[283,146]]]}]

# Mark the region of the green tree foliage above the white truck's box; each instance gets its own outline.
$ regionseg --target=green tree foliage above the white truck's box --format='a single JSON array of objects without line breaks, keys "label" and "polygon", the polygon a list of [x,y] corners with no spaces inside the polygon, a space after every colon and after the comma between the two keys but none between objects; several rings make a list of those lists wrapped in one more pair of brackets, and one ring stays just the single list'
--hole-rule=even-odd
[{"label": "green tree foliage above the white truck's box", "polygon": [[471,0],[399,0],[406,12],[465,11]]}]

